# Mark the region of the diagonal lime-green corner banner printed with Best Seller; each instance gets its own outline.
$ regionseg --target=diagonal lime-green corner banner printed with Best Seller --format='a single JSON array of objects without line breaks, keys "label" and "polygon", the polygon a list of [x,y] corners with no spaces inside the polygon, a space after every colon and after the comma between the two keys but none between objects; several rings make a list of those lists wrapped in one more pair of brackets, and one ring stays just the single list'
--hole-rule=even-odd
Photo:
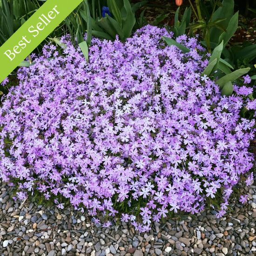
[{"label": "diagonal lime-green corner banner printed with Best Seller", "polygon": [[47,0],[1,47],[2,82],[83,0]]}]

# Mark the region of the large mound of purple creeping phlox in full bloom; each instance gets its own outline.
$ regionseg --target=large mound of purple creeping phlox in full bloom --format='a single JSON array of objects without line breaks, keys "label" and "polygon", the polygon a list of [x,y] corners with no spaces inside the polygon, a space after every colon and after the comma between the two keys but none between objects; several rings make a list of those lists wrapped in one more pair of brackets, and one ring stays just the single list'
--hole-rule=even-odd
[{"label": "large mound of purple creeping phlox in full bloom", "polygon": [[[44,47],[19,71],[0,108],[0,177],[17,198],[66,198],[104,225],[120,216],[148,230],[170,212],[197,213],[218,199],[222,216],[241,176],[252,182],[255,121],[240,118],[251,88],[221,96],[202,77],[208,54],[196,38],[166,46],[146,26],[125,43],[93,39],[87,63],[68,39]],[[52,59],[48,59],[51,58]]]}]

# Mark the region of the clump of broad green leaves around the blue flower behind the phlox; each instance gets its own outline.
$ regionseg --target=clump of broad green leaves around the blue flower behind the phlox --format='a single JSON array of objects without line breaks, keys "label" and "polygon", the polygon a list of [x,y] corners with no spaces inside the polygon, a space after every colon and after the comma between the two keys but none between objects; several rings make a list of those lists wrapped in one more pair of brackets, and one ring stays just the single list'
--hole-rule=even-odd
[{"label": "clump of broad green leaves around the blue flower behind the phlox", "polygon": [[[128,38],[135,26],[135,11],[145,4],[145,1],[131,5],[128,0],[107,0],[111,16],[101,15],[102,3],[95,0],[84,0],[71,15],[65,19],[66,26],[71,34],[81,38],[87,32],[87,45],[90,45],[91,36],[115,40],[116,35],[121,40]],[[85,44],[84,44],[85,45]]]}]

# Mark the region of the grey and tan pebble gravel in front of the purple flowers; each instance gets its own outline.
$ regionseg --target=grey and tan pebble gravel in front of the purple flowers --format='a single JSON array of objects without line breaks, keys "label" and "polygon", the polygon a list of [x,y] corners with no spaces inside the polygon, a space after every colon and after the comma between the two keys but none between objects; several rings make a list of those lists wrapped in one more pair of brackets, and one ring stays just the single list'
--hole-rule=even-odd
[{"label": "grey and tan pebble gravel in front of the purple flowers", "polygon": [[256,255],[256,186],[240,188],[248,204],[232,203],[220,219],[208,210],[153,225],[150,234],[126,223],[95,226],[73,209],[13,202],[8,189],[0,183],[0,256]]}]

